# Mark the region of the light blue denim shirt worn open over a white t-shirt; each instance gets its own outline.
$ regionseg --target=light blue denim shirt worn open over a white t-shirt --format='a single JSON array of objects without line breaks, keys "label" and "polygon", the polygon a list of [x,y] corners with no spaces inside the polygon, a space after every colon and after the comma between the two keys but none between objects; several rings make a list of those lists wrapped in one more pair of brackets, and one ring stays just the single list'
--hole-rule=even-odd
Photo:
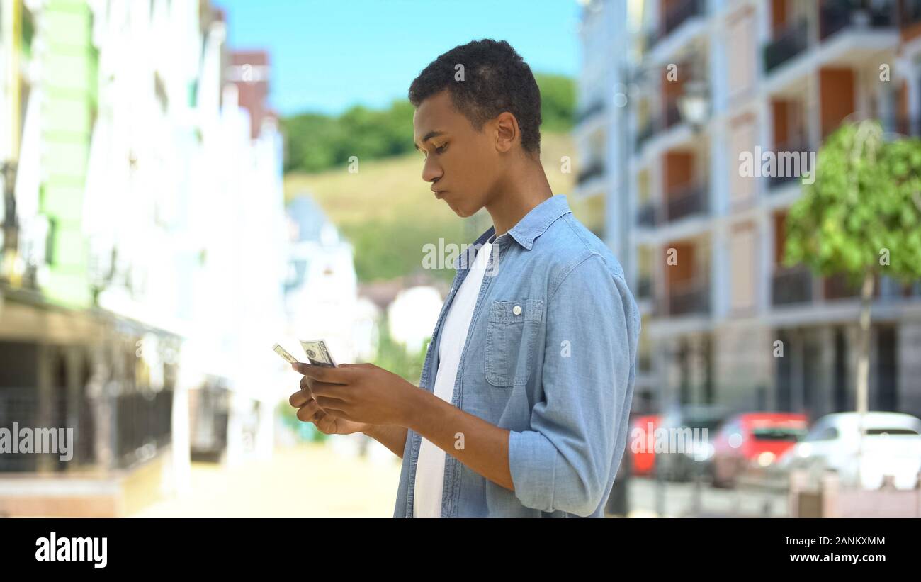
[{"label": "light blue denim shirt worn open over a white t-shirt", "polygon": [[[458,287],[490,227],[455,262],[457,274],[419,381],[431,392],[438,342]],[[473,309],[451,403],[505,428],[515,491],[447,451],[443,518],[604,517],[626,447],[639,310],[611,250],[564,194],[497,237]],[[422,436],[407,430],[394,518],[413,517]]]}]

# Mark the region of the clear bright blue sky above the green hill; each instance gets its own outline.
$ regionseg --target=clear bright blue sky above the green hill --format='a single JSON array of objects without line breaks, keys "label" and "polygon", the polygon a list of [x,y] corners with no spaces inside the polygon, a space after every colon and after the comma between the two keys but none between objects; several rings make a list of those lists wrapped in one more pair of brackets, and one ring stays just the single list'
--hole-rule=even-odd
[{"label": "clear bright blue sky above the green hill", "polygon": [[[405,99],[438,54],[506,40],[536,73],[577,76],[576,0],[215,0],[233,49],[271,53],[270,101],[283,115],[340,113]],[[539,6],[538,9],[535,6]]]}]

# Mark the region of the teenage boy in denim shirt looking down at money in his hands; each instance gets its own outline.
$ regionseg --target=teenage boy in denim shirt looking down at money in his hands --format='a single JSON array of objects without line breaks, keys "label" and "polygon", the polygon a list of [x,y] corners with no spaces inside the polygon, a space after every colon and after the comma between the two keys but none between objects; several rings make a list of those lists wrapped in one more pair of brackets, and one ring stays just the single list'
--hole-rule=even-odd
[{"label": "teenage boy in denim shirt looking down at money in his hands", "polygon": [[290,403],[402,457],[395,518],[604,517],[640,318],[611,250],[551,191],[530,67],[505,41],[472,41],[409,99],[423,180],[493,227],[458,258],[418,387],[370,364],[295,364]]}]

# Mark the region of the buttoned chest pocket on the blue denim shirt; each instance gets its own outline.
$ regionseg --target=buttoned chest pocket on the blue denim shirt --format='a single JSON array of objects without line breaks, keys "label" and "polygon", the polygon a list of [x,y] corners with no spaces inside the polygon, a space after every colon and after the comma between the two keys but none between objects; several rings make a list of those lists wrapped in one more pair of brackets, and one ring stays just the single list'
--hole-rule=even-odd
[{"label": "buttoned chest pocket on the blue denim shirt", "polygon": [[541,331],[543,299],[493,301],[486,322],[486,381],[496,387],[528,381]]}]

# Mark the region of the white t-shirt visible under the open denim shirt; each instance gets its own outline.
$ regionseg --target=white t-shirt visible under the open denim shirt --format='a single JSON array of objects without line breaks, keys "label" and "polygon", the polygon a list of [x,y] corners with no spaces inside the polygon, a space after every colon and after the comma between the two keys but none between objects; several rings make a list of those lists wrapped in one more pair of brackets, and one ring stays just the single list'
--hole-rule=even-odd
[{"label": "white t-shirt visible under the open denim shirt", "polygon": [[[489,255],[493,250],[490,237],[479,250],[464,277],[463,283],[454,294],[454,301],[445,318],[441,342],[438,346],[438,371],[435,377],[435,395],[445,402],[454,396],[454,381],[461,363],[461,352],[467,341],[473,308],[480,295],[480,286]],[[440,518],[441,492],[445,479],[445,451],[437,448],[426,437],[419,446],[419,458],[415,466],[415,490],[413,494],[414,518]]]}]

